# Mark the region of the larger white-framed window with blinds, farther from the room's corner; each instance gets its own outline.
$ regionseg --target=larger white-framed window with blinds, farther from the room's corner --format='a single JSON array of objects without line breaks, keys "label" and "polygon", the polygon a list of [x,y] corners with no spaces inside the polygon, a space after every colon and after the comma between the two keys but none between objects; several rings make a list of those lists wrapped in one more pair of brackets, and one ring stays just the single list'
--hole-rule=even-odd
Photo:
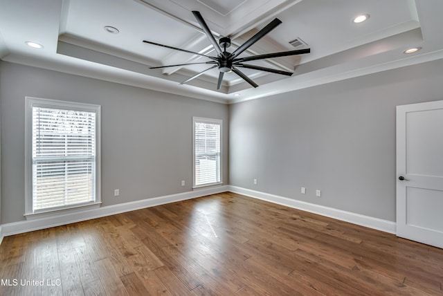
[{"label": "larger white-framed window with blinds, farther from the room's corner", "polygon": [[100,106],[26,98],[26,214],[100,203]]}]

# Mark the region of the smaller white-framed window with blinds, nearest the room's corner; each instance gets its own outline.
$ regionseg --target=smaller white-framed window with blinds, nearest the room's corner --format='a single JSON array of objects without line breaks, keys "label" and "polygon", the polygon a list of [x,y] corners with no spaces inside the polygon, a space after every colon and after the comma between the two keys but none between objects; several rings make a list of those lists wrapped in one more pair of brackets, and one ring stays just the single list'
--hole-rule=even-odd
[{"label": "smaller white-framed window with blinds, nearest the room's corner", "polygon": [[221,120],[193,118],[194,187],[221,183]]}]

